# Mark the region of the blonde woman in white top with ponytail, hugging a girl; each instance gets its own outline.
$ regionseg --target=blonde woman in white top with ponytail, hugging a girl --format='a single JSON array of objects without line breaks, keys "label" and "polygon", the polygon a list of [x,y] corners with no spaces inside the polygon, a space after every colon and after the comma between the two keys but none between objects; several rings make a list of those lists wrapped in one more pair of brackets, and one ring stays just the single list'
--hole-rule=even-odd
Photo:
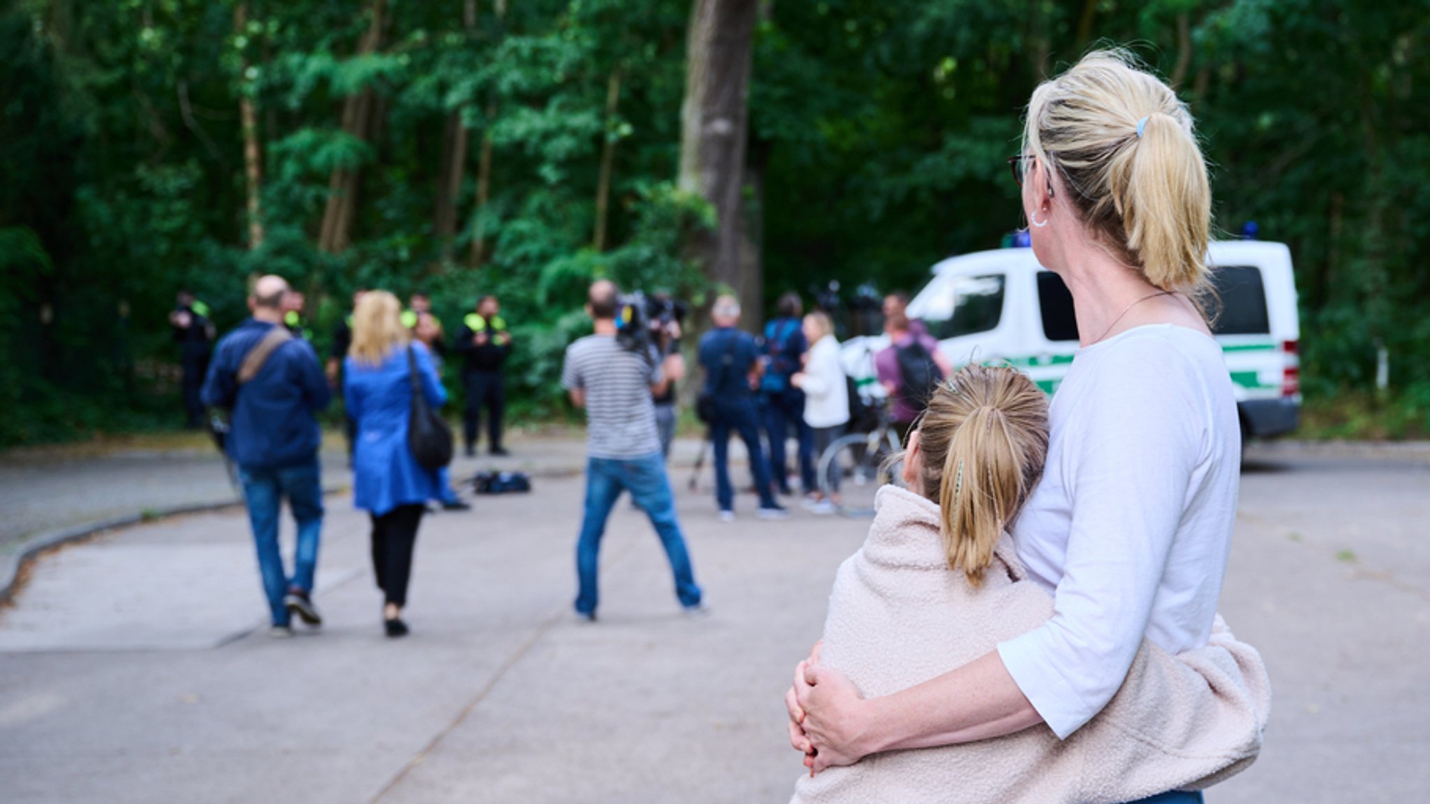
[{"label": "blonde woman in white top with ponytail, hugging a girl", "polygon": [[[1081,335],[1051,403],[1045,469],[1010,519],[1051,617],[881,694],[811,655],[786,705],[812,773],[1025,730],[1068,740],[1131,684],[1144,642],[1178,660],[1214,644],[1241,445],[1231,381],[1197,303],[1211,196],[1191,116],[1125,53],[1094,52],[1032,93],[1011,162],[1034,255],[1067,283]],[[1258,667],[1228,684],[1254,690]],[[1141,795],[1201,801],[1175,787]]]}]

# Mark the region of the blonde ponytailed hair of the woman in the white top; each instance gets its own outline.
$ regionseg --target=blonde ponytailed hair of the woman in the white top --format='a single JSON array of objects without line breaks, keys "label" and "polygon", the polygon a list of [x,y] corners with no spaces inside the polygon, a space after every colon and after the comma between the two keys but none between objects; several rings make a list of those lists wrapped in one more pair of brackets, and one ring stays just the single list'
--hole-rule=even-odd
[{"label": "blonde ponytailed hair of the woman in the white top", "polygon": [[1124,50],[1095,50],[1028,102],[1024,153],[1120,262],[1195,299],[1208,282],[1211,185],[1187,106]]}]

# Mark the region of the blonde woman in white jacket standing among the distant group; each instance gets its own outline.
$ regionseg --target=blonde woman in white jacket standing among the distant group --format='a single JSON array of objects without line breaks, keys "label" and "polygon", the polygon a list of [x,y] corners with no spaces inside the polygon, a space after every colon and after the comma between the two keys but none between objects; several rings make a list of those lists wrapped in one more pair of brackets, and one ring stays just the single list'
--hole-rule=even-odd
[{"label": "blonde woman in white jacket standing among the distant group", "polygon": [[[805,423],[814,432],[814,461],[821,464],[824,451],[844,435],[849,423],[849,386],[844,381],[844,366],[839,365],[839,342],[834,338],[834,323],[829,316],[815,310],[804,318],[805,340],[811,343],[802,372],[789,378],[789,383],[805,392]],[[838,502],[839,476],[829,478],[834,501],[824,492],[811,489],[804,501],[805,508],[815,514],[834,514]]]}]

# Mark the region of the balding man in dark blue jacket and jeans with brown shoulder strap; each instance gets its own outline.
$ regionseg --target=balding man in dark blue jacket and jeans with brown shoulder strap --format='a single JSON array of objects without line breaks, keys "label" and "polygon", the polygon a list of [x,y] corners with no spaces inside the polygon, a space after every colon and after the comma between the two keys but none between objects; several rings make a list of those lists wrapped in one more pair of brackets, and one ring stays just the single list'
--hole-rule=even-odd
[{"label": "balding man in dark blue jacket and jeans with brown shoulder strap", "polygon": [[[253,318],[219,340],[203,383],[204,405],[232,411],[226,449],[243,481],[275,637],[293,634],[289,624],[295,614],[309,625],[323,622],[312,601],[323,529],[322,432],[313,413],[332,398],[313,346],[283,326],[287,293],[282,276],[265,276],[253,285]],[[292,577],[285,574],[277,548],[283,496],[297,521]]]}]

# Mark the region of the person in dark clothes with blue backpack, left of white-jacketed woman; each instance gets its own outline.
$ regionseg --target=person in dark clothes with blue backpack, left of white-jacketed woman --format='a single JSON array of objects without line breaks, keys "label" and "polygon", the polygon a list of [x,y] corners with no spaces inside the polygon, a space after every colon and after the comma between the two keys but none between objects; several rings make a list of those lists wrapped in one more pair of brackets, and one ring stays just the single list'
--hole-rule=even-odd
[{"label": "person in dark clothes with blue backpack, left of white-jacketed woman", "polygon": [[779,494],[788,496],[789,466],[785,462],[785,442],[795,432],[799,461],[799,484],[804,492],[815,491],[814,432],[804,421],[804,391],[791,385],[789,378],[804,366],[809,343],[804,336],[804,305],[798,293],[779,298],[779,318],[765,325],[765,372],[759,376],[759,412],[769,438],[769,474]]}]

